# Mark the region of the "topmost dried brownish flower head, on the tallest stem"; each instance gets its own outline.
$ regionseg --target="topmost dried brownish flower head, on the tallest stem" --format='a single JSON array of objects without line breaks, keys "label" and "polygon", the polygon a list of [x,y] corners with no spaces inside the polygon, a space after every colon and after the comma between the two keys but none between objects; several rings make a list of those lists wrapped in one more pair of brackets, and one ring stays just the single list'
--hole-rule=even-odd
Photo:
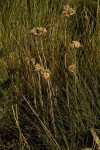
[{"label": "topmost dried brownish flower head, on the tallest stem", "polygon": [[71,8],[69,5],[65,5],[63,7],[63,15],[65,17],[69,17],[71,15],[74,15],[75,13],[76,13],[75,10],[73,8]]}]

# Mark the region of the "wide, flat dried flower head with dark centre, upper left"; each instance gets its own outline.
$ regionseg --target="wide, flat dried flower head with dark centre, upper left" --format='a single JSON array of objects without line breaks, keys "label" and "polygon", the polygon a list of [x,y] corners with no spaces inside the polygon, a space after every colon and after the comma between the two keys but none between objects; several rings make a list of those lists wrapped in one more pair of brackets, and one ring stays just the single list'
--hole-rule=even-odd
[{"label": "wide, flat dried flower head with dark centre, upper left", "polygon": [[36,36],[41,36],[41,35],[45,35],[47,33],[47,30],[42,27],[40,27],[40,28],[36,27],[31,30],[31,33]]}]

